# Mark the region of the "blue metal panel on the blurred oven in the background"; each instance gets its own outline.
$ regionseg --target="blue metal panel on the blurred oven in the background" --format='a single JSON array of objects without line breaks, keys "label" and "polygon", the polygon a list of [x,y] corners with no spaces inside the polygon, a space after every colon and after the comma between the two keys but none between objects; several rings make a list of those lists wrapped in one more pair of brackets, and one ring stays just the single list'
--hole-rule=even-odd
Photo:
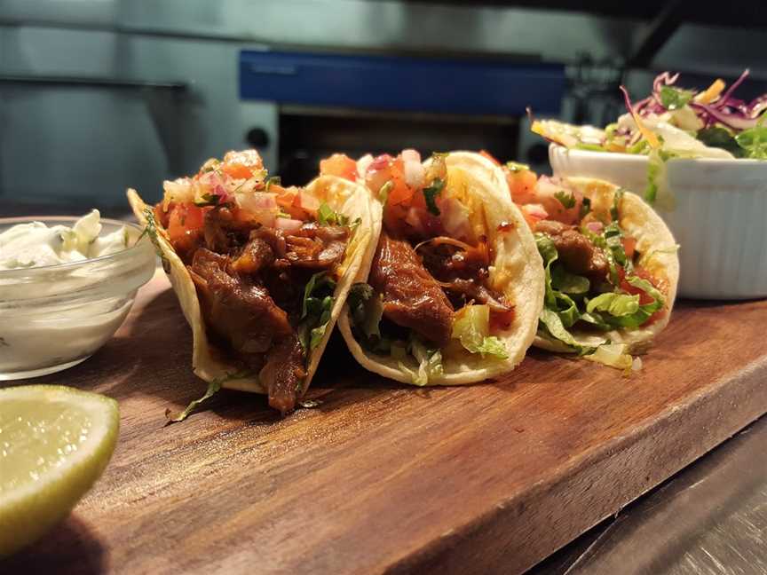
[{"label": "blue metal panel on the blurred oven in the background", "polygon": [[286,104],[451,114],[557,114],[565,67],[485,59],[426,59],[241,51],[240,97]]}]

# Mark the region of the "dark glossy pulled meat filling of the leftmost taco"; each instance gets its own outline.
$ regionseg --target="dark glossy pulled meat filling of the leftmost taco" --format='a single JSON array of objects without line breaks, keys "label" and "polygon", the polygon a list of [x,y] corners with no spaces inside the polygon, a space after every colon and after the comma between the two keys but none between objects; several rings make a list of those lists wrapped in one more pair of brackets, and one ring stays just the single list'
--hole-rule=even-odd
[{"label": "dark glossy pulled meat filling of the leftmost taco", "polygon": [[286,234],[237,216],[227,207],[208,211],[199,245],[182,257],[209,334],[258,373],[269,405],[286,414],[306,376],[297,334],[304,285],[344,258],[351,231],[312,222]]}]

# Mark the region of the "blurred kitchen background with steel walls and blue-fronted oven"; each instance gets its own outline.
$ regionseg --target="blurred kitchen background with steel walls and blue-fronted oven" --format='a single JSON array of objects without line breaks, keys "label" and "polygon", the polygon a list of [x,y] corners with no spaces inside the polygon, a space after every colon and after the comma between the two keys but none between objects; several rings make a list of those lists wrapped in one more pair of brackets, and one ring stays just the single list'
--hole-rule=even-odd
[{"label": "blurred kitchen background with steel walls and blue-fronted oven", "polygon": [[[763,3],[0,0],[0,216],[124,211],[124,190],[257,147],[321,157],[485,148],[546,165],[542,116],[605,124],[658,71],[767,91]],[[12,207],[13,205],[13,207]],[[23,208],[19,208],[23,205]]]}]

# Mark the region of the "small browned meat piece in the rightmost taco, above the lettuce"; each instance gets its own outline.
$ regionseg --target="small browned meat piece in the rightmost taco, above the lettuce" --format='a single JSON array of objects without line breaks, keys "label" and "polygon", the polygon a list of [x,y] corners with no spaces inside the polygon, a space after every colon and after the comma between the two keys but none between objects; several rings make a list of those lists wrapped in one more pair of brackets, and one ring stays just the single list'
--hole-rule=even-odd
[{"label": "small browned meat piece in the rightmost taco, above the lettuce", "polygon": [[591,280],[604,281],[610,273],[605,254],[578,231],[574,225],[553,220],[541,220],[535,232],[548,235],[554,242],[559,260],[568,272],[588,276]]}]

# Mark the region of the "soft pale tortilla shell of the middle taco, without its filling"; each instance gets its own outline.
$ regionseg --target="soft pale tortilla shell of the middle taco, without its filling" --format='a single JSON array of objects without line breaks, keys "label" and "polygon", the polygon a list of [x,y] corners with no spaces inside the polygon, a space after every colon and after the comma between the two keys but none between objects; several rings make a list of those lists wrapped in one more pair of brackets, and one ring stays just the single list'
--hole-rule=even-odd
[{"label": "soft pale tortilla shell of the middle taco, without its filling", "polygon": [[[495,334],[504,343],[509,357],[498,359],[464,351],[460,343],[451,342],[442,349],[443,374],[433,376],[427,385],[461,385],[481,382],[489,377],[510,372],[518,365],[534,341],[538,316],[543,305],[544,274],[541,256],[535,246],[533,233],[525,218],[510,200],[502,170],[479,154],[454,152],[447,156],[447,167],[463,170],[468,182],[470,209],[482,210],[486,219],[487,240],[493,247],[495,259],[490,267],[490,283],[514,303],[514,321],[510,327]],[[448,176],[449,177],[449,176]],[[500,179],[499,179],[500,178]],[[447,193],[444,191],[443,193]],[[376,201],[376,203],[378,203]],[[508,231],[499,231],[502,224]],[[355,282],[367,281],[375,256],[376,243],[360,266]],[[352,335],[347,308],[338,319],[338,328],[361,366],[376,374],[403,383],[413,383],[412,376],[399,366],[399,360],[367,351]],[[453,345],[455,343],[455,346]],[[416,370],[415,360],[408,358],[407,369]]]}]

